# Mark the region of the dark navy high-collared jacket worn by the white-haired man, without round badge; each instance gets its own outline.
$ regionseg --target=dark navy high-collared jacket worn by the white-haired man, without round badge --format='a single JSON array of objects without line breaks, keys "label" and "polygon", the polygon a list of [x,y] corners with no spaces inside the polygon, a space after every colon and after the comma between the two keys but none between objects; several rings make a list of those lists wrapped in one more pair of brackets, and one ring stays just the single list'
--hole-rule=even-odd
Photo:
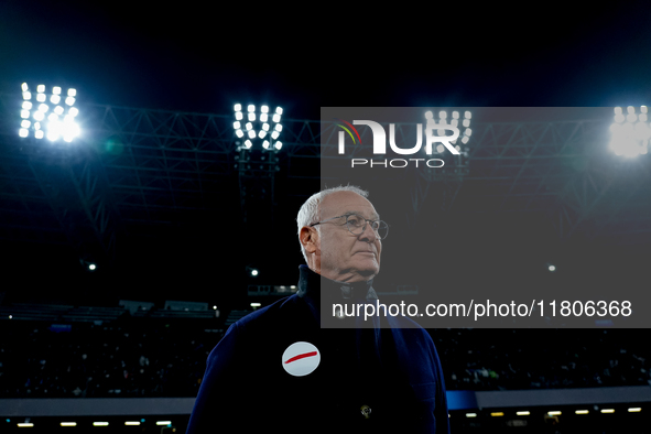
[{"label": "dark navy high-collared jacket worn by the white-haired man, without round badge", "polygon": [[[295,295],[232,324],[210,352],[187,433],[448,433],[443,372],[427,332],[405,317],[322,328],[322,301],[367,302],[371,281],[351,285],[300,271]],[[302,377],[281,360],[297,341],[321,356]]]}]

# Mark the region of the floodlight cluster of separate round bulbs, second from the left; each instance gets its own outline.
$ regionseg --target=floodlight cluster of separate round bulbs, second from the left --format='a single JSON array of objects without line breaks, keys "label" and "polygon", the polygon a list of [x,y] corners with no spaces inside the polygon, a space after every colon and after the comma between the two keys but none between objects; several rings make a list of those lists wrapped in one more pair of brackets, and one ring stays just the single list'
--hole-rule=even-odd
[{"label": "floodlight cluster of separate round bulbs, second from the left", "polygon": [[275,111],[270,113],[269,106],[261,106],[260,113],[257,115],[254,105],[249,105],[247,107],[247,112],[245,113],[242,111],[242,105],[236,104],[234,110],[235,122],[232,122],[232,128],[238,138],[241,139],[247,135],[247,139],[245,140],[246,149],[251,149],[253,147],[252,140],[258,138],[263,140],[263,149],[268,150],[271,147],[271,141],[275,140],[272,150],[281,150],[283,144],[278,141],[283,129],[283,126],[280,123],[280,118],[283,113],[281,107],[276,107]]}]

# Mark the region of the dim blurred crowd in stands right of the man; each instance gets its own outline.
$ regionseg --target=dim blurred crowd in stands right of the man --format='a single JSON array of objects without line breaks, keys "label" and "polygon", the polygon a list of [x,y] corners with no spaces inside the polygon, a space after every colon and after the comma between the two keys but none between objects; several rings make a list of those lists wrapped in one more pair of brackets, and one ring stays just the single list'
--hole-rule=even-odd
[{"label": "dim blurred crowd in stands right of the man", "polygon": [[651,384],[643,329],[437,329],[448,390]]}]

